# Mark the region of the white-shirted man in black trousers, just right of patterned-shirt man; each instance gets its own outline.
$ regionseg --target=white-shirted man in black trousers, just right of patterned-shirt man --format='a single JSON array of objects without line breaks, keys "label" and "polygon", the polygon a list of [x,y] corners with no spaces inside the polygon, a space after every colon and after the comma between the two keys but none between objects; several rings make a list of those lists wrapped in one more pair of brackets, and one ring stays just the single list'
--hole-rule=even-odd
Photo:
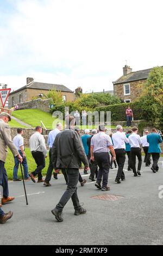
[{"label": "white-shirted man in black trousers, just right of patterned-shirt man", "polygon": [[126,160],[126,144],[129,143],[128,138],[124,133],[122,133],[123,129],[121,125],[117,125],[116,127],[117,132],[112,135],[112,142],[114,146],[114,150],[116,153],[116,161],[118,164],[118,172],[115,179],[115,182],[118,184],[125,180],[125,175],[123,172],[124,163]]}]

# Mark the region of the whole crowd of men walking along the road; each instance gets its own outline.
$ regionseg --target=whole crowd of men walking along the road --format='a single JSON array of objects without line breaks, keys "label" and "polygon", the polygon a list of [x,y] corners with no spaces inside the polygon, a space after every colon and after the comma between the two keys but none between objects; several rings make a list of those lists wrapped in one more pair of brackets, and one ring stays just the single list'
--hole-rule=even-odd
[{"label": "whole crowd of men walking along the road", "polygon": [[[49,146],[49,166],[45,180],[42,179],[42,169],[45,168],[45,158],[47,157],[47,148],[43,137],[42,128],[37,126],[35,133],[30,137],[29,147],[36,163],[36,169],[29,173],[27,157],[24,149],[23,130],[17,129],[17,135],[11,140],[10,127],[7,124],[11,120],[8,113],[0,114],[0,186],[3,187],[2,204],[11,202],[14,197],[9,196],[7,171],[4,168],[7,159],[7,147],[14,155],[13,180],[21,181],[17,177],[19,163],[24,169],[24,180],[43,182],[46,187],[51,186],[52,173],[54,179],[58,179],[58,173],[61,170],[67,184],[66,191],[62,195],[59,203],[52,210],[52,214],[59,222],[63,221],[63,209],[71,198],[74,206],[74,215],[85,214],[86,209],[80,205],[77,184],[80,182],[84,186],[86,180],[80,175],[79,169],[84,164],[84,174],[90,169],[89,179],[96,181],[95,186],[101,191],[109,191],[108,176],[112,164],[118,167],[115,182],[121,184],[126,180],[123,172],[126,154],[128,156],[128,171],[133,170],[134,177],[141,175],[142,153],[141,147],[145,152],[145,163],[149,167],[151,164],[151,155],[153,173],[158,172],[158,161],[161,153],[161,136],[155,128],[151,134],[145,131],[145,135],[138,135],[137,127],[128,130],[127,134],[123,132],[122,126],[117,125],[116,132],[108,134],[105,125],[99,125],[98,130],[92,130],[92,135],[88,129],[80,137],[80,129],[75,126],[76,118],[68,115],[65,119],[66,129],[62,129],[60,123],[48,135]],[[110,154],[109,154],[110,152]],[[136,168],[136,157],[138,166]],[[5,223],[12,217],[13,212],[5,214],[0,205],[0,223]]]}]

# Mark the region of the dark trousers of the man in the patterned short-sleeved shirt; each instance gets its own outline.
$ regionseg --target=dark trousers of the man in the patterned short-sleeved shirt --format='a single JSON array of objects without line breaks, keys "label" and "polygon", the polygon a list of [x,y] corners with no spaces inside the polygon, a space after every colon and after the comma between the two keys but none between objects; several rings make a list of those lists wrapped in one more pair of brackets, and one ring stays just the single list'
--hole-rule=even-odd
[{"label": "dark trousers of the man in the patterned short-sleeved shirt", "polygon": [[108,152],[95,153],[95,160],[97,161],[99,170],[97,174],[97,183],[101,184],[103,179],[102,187],[108,185],[108,176],[110,168],[110,157]]}]

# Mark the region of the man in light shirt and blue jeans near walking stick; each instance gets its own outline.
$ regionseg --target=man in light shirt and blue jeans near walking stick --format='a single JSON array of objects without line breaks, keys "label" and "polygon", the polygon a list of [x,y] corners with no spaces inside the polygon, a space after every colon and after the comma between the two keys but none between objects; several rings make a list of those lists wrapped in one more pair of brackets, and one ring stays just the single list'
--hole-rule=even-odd
[{"label": "man in light shirt and blue jeans near walking stick", "polygon": [[[17,148],[18,152],[23,158],[22,165],[24,168],[24,180],[30,180],[29,175],[28,175],[28,164],[27,164],[27,158],[26,154],[24,152],[24,139],[22,137],[23,135],[23,129],[18,128],[17,129],[17,135],[14,137],[13,142],[15,144],[15,147]],[[21,181],[21,179],[17,178],[17,171],[18,171],[18,166],[19,166],[19,161],[17,157],[14,157],[15,161],[15,166],[14,166],[14,172],[13,172],[13,181]]]}]

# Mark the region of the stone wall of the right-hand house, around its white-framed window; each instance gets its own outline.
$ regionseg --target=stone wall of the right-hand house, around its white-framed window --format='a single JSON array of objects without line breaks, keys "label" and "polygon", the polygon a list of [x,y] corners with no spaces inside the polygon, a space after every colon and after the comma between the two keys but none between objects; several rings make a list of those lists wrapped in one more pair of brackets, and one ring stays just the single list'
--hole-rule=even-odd
[{"label": "stone wall of the right-hand house, around its white-framed window", "polygon": [[145,82],[146,80],[129,82],[130,95],[124,95],[123,85],[127,83],[114,84],[114,95],[120,97],[123,101],[130,99],[130,101],[133,102],[139,99],[140,94],[142,93],[142,83]]}]

